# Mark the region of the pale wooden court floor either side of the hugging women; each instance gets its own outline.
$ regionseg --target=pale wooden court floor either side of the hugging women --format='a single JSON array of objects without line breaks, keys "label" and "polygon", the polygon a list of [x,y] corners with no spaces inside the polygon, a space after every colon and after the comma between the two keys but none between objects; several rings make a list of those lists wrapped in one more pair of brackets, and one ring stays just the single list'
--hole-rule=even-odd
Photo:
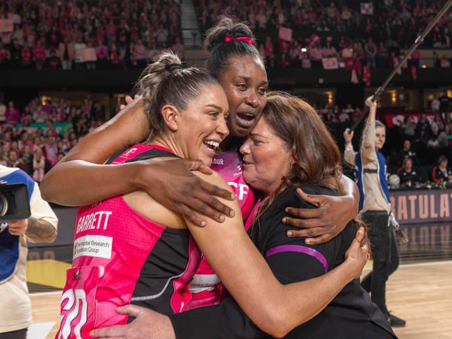
[{"label": "pale wooden court floor either side of the hugging women", "polygon": [[[31,295],[33,323],[55,322],[47,338],[56,334],[59,301],[59,293]],[[399,267],[389,278],[387,305],[407,320],[395,329],[399,338],[452,339],[452,261]]]}]

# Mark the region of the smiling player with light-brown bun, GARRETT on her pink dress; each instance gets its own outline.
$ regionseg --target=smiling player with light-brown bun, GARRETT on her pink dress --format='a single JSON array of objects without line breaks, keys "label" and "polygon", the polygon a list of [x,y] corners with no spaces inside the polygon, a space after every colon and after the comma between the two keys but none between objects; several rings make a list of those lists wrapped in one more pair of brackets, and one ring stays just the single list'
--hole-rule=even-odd
[{"label": "smiling player with light-brown bun, GARRETT on her pink dress", "polygon": [[[199,158],[210,166],[229,133],[227,98],[218,81],[200,69],[181,69],[177,56],[163,53],[145,70],[140,92],[150,134],[145,143],[115,154],[109,163],[179,157]],[[216,172],[195,175],[229,190]],[[186,311],[201,251],[250,319],[277,335],[282,324],[293,327],[318,313],[359,276],[369,256],[360,245],[360,232],[343,265],[322,277],[282,285],[245,232],[238,202],[223,204],[234,217],[223,223],[212,220],[204,228],[143,190],[79,208],[57,338],[89,338],[97,326],[125,324],[127,315],[116,308],[129,302],[168,315]],[[252,289],[250,282],[255,282]]]}]

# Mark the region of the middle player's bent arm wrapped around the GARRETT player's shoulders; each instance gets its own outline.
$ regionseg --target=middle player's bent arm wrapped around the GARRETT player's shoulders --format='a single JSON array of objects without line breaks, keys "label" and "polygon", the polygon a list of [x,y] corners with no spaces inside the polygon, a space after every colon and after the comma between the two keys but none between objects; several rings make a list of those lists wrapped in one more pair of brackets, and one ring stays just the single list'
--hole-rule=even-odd
[{"label": "middle player's bent arm wrapped around the GARRETT player's shoulders", "polygon": [[86,135],[46,174],[40,185],[42,197],[60,205],[83,206],[142,189],[199,226],[205,223],[200,215],[217,221],[231,215],[231,210],[213,195],[234,197],[191,173],[192,170],[211,173],[200,161],[143,160],[100,165],[116,151],[143,141],[149,133],[143,105],[140,99],[135,99],[113,119]]}]

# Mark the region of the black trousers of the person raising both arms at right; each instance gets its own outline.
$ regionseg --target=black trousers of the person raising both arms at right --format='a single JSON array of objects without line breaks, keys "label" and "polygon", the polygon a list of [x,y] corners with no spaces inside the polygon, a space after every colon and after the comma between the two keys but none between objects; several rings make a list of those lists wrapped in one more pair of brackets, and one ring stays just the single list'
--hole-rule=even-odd
[{"label": "black trousers of the person raising both arms at right", "polygon": [[392,226],[388,227],[388,214],[381,210],[369,210],[363,214],[364,222],[369,226],[369,240],[373,270],[362,279],[361,286],[371,292],[372,301],[387,313],[386,281],[398,267],[396,236]]}]

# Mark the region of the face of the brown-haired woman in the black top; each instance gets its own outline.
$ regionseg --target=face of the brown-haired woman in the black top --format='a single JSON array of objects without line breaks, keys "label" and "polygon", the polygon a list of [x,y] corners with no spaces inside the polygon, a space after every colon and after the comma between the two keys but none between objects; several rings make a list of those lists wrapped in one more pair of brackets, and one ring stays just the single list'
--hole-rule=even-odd
[{"label": "face of the brown-haired woman in the black top", "polygon": [[243,178],[266,195],[275,192],[282,184],[282,177],[291,171],[291,151],[265,118],[259,119],[240,152],[243,154]]}]

